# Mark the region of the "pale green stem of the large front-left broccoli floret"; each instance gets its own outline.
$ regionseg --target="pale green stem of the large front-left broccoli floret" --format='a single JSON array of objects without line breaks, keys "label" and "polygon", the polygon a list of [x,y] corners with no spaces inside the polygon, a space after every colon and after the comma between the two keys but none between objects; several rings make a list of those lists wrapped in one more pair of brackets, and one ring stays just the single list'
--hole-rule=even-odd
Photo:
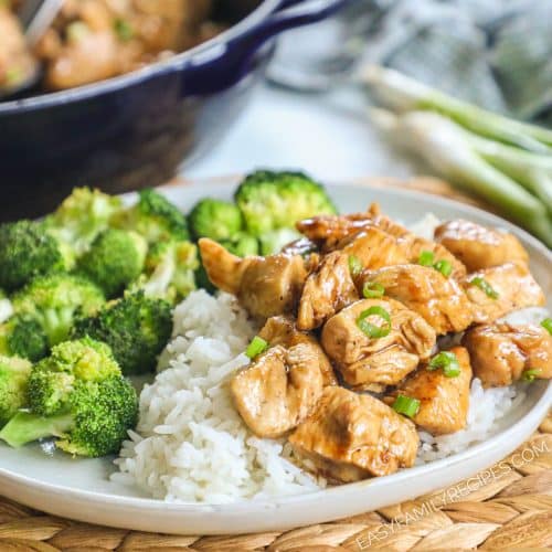
[{"label": "pale green stem of the large front-left broccoli floret", "polygon": [[13,448],[44,437],[62,437],[73,427],[71,414],[38,416],[30,412],[18,412],[0,432],[0,439]]}]

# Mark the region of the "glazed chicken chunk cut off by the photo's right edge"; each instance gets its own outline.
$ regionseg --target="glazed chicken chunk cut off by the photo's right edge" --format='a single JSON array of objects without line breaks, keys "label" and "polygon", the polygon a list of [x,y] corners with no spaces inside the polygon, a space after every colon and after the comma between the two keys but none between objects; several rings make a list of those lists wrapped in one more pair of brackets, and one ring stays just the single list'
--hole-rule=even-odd
[{"label": "glazed chicken chunk cut off by the photo's right edge", "polygon": [[552,378],[552,336],[540,326],[478,326],[466,332],[463,344],[485,388],[510,385],[523,374]]}]

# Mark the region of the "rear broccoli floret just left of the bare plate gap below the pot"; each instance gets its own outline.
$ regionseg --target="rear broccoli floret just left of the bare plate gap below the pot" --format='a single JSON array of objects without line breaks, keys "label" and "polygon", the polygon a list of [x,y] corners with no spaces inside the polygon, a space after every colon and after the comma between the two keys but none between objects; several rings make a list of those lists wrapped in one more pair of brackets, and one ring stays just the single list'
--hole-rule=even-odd
[{"label": "rear broccoli floret just left of the bare plate gap below the pot", "polygon": [[132,230],[149,244],[166,240],[189,240],[185,216],[167,198],[147,189],[139,192],[138,203],[114,216],[112,224],[123,230]]}]

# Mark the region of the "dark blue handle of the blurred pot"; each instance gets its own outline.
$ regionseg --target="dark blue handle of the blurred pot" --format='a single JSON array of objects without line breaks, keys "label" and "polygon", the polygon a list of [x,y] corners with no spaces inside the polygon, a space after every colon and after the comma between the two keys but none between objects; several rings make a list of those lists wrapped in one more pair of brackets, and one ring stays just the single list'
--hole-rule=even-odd
[{"label": "dark blue handle of the blurred pot", "polygon": [[226,43],[199,52],[178,70],[184,95],[212,94],[229,88],[254,65],[254,54],[270,39],[288,29],[316,23],[354,0],[280,0],[264,21]]}]

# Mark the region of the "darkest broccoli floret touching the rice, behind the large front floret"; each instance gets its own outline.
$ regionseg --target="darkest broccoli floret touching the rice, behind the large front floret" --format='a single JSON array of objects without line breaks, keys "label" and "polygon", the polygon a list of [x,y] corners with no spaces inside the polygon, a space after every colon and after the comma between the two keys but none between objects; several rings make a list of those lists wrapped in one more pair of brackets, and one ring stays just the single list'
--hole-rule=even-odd
[{"label": "darkest broccoli floret touching the rice, behind the large front floret", "polygon": [[171,332],[170,305],[137,291],[106,306],[95,317],[78,320],[73,336],[89,336],[107,343],[123,373],[130,375],[155,369]]}]

